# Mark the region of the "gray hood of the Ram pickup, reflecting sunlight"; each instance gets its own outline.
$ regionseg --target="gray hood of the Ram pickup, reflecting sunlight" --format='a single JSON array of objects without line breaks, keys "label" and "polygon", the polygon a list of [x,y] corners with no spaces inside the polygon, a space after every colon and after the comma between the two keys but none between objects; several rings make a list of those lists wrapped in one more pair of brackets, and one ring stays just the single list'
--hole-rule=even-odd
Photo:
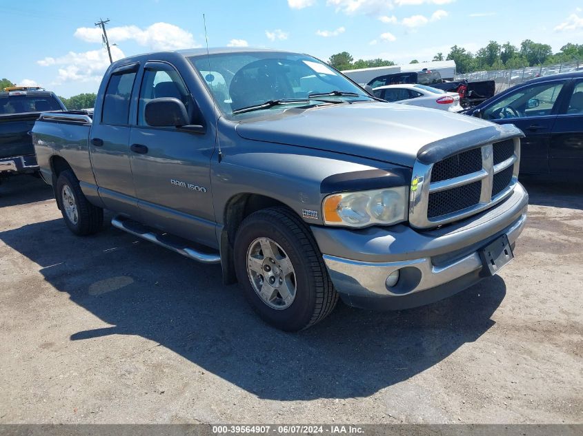
[{"label": "gray hood of the Ram pickup, reflecting sunlight", "polygon": [[424,145],[489,127],[471,116],[393,103],[288,109],[237,125],[242,138],[324,149],[413,167]]}]

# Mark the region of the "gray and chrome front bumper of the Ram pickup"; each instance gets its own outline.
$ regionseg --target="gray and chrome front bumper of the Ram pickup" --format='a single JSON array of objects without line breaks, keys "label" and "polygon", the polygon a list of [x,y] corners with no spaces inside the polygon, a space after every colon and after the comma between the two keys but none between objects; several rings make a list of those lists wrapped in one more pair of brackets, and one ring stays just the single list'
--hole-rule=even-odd
[{"label": "gray and chrome front bumper of the Ram pickup", "polygon": [[[442,229],[396,225],[312,230],[344,302],[365,309],[408,309],[446,298],[489,276],[480,249],[503,234],[514,247],[527,207],[528,194],[517,183],[503,203]],[[387,287],[386,279],[397,270],[397,284]]]}]

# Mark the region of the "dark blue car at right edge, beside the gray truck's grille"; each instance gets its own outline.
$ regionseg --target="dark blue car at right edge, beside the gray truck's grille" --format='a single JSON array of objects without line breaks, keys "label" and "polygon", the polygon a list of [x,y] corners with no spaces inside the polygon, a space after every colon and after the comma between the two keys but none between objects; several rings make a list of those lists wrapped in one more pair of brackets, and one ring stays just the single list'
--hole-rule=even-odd
[{"label": "dark blue car at right edge, beside the gray truck's grille", "polygon": [[583,72],[532,79],[466,114],[500,125],[513,124],[524,132],[522,173],[582,178]]}]

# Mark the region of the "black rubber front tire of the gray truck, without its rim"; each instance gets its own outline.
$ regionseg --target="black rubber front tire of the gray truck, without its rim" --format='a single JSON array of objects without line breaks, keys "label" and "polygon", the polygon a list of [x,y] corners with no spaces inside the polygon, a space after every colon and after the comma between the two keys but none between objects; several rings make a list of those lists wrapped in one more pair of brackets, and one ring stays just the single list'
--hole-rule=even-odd
[{"label": "black rubber front tire of the gray truck, without its rim", "polygon": [[[257,295],[247,270],[247,252],[258,238],[270,238],[286,252],[295,271],[295,298],[285,309],[273,309]],[[328,276],[308,227],[292,211],[270,207],[241,223],[235,237],[235,272],[247,300],[259,316],[284,331],[299,331],[326,318],[338,294]]]}]

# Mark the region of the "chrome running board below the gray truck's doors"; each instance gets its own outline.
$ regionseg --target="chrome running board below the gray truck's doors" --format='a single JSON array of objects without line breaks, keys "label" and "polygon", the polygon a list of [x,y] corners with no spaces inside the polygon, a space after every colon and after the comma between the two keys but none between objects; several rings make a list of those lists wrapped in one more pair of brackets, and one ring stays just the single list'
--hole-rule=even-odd
[{"label": "chrome running board below the gray truck's doors", "polygon": [[[204,251],[200,251],[199,249],[195,249],[194,247],[188,247],[183,242],[188,243],[188,241],[176,237],[177,240],[172,240],[173,236],[169,233],[161,233],[161,231],[157,229],[153,229],[152,227],[148,227],[146,225],[141,224],[141,222],[137,222],[131,220],[130,218],[125,218],[123,216],[115,216],[111,220],[111,225],[113,227],[117,227],[120,230],[127,231],[134,236],[139,238],[145,239],[149,242],[154,242],[161,247],[167,248],[169,250],[174,251],[175,253],[179,253],[182,256],[186,256],[192,260],[197,260],[197,262],[202,263],[220,263],[221,256],[219,253],[209,252],[206,253]],[[195,245],[194,242],[190,242],[192,245]],[[209,249],[210,250],[210,249]]]}]

